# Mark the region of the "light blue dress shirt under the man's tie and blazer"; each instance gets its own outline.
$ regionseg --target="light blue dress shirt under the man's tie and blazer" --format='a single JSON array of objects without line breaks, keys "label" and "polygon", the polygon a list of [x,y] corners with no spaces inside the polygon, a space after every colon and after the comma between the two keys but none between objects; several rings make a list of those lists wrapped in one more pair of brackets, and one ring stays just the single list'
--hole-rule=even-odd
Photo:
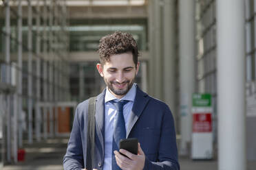
[{"label": "light blue dress shirt under the man's tie and blazer", "polygon": [[111,170],[111,158],[112,158],[112,140],[113,140],[113,132],[114,132],[114,122],[116,121],[116,107],[111,104],[111,100],[120,101],[120,100],[128,100],[129,102],[125,104],[123,107],[123,114],[125,118],[125,128],[127,129],[129,122],[129,115],[132,107],[134,106],[134,99],[136,96],[136,84],[133,84],[129,92],[122,97],[122,99],[117,99],[112,95],[109,89],[106,89],[105,95],[105,158],[103,170]]}]

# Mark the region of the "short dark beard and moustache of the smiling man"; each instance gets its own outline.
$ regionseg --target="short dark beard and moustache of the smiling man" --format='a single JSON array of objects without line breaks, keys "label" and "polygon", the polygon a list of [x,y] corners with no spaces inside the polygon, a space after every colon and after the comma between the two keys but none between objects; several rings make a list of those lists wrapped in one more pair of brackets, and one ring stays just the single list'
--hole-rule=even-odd
[{"label": "short dark beard and moustache of the smiling man", "polygon": [[108,82],[105,78],[104,78],[104,81],[107,85],[107,88],[109,88],[109,90],[111,90],[111,92],[114,93],[115,95],[126,95],[131,89],[132,85],[134,84],[134,79],[131,81],[127,80],[121,83],[121,84],[127,84],[125,88],[116,88],[114,87],[114,84],[120,84],[120,83],[116,81]]}]

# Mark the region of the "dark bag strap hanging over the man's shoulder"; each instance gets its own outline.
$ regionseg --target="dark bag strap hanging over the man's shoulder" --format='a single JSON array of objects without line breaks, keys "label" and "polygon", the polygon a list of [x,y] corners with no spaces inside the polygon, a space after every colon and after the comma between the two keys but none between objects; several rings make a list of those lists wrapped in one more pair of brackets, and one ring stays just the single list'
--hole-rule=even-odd
[{"label": "dark bag strap hanging over the man's shoulder", "polygon": [[86,169],[92,170],[94,161],[94,132],[95,132],[95,106],[96,97],[89,98],[88,121],[87,121],[87,152],[86,152]]}]

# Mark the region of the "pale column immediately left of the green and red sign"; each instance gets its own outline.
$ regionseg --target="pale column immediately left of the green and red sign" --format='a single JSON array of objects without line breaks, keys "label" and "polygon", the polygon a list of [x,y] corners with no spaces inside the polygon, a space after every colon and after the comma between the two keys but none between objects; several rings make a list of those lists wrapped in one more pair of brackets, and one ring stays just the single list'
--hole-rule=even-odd
[{"label": "pale column immediately left of the green and red sign", "polygon": [[187,155],[191,142],[191,102],[194,92],[194,1],[179,1],[180,53],[180,154]]}]

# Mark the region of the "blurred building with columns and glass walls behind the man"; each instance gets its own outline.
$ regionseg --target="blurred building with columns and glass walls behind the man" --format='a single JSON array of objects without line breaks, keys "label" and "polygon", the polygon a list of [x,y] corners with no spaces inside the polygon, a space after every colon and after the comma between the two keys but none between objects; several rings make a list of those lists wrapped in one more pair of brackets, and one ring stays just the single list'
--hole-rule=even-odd
[{"label": "blurred building with columns and glass walls behind the man", "polygon": [[24,142],[69,136],[76,104],[105,88],[98,41],[120,30],[138,42],[136,82],[173,112],[180,156],[191,154],[192,94],[208,93],[214,158],[245,169],[256,160],[255,12],[254,0],[0,0],[0,168]]}]

